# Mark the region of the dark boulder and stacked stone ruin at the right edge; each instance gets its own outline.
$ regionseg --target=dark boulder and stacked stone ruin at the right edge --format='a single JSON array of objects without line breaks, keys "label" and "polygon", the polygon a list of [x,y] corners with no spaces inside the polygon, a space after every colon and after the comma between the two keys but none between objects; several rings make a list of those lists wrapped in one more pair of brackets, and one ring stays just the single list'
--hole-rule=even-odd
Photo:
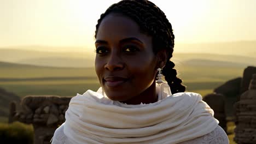
[{"label": "dark boulder and stacked stone ruin at the right edge", "polygon": [[[225,82],[215,88],[214,93],[203,98],[212,107],[214,117],[219,120],[220,127],[225,131],[227,122],[235,122],[234,140],[237,143],[256,143],[253,141],[256,139],[256,126],[252,125],[256,123],[256,80],[255,75],[251,80],[253,74],[256,74],[256,67],[247,67],[243,71],[243,77]],[[226,131],[228,132],[231,131]]]}]

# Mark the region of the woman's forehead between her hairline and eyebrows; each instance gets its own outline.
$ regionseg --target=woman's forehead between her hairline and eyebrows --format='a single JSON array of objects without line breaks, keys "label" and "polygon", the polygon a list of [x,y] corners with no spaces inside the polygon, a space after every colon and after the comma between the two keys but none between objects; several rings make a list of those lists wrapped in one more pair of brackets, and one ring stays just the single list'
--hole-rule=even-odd
[{"label": "woman's forehead between her hairline and eyebrows", "polygon": [[148,35],[140,32],[139,25],[135,21],[121,14],[109,14],[104,17],[96,35],[97,40],[120,40],[129,37],[141,40],[149,38]]}]

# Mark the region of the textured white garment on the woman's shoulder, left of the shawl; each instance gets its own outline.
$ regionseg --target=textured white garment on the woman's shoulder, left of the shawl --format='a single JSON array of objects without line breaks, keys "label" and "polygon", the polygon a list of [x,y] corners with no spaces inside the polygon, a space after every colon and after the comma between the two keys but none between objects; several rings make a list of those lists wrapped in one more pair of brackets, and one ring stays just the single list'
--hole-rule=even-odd
[{"label": "textured white garment on the woman's shoulder, left of the shawl", "polygon": [[52,144],[66,143],[67,137],[63,131],[64,125],[65,123],[63,123],[59,128],[55,130],[53,139],[51,140]]}]

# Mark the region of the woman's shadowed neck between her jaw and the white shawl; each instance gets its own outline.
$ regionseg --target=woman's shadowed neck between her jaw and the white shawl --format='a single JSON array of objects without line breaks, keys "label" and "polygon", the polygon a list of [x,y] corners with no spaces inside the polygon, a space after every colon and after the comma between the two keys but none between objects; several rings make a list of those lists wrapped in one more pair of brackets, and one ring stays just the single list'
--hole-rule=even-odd
[{"label": "woman's shadowed neck between her jaw and the white shawl", "polygon": [[120,102],[128,105],[139,105],[141,103],[155,103],[156,101],[158,101],[158,95],[156,94],[155,82],[153,82],[152,85],[146,89],[146,91],[142,92],[137,97]]}]

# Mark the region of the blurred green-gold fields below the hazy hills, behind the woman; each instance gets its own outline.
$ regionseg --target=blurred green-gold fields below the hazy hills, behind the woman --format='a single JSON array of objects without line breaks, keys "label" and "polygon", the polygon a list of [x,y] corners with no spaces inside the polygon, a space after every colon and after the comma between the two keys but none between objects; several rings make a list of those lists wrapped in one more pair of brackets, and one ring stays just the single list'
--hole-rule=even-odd
[{"label": "blurred green-gold fields below the hazy hills, behind the woman", "polygon": [[[187,91],[211,93],[225,81],[242,76],[242,68],[188,67],[177,64],[178,77]],[[55,68],[20,64],[0,65],[0,87],[20,97],[25,95],[74,96],[100,84],[94,68]]]}]

